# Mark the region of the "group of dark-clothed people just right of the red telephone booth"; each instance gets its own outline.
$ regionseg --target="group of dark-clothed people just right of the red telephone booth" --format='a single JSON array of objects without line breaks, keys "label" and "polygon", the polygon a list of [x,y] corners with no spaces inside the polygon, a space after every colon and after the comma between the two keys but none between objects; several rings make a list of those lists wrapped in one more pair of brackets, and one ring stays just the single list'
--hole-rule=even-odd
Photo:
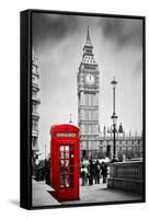
[{"label": "group of dark-clothed people just right of the red telephone booth", "polygon": [[80,173],[82,186],[100,184],[101,182],[106,183],[107,165],[104,161],[100,163],[99,160],[95,162],[89,160],[89,163],[82,163]]}]

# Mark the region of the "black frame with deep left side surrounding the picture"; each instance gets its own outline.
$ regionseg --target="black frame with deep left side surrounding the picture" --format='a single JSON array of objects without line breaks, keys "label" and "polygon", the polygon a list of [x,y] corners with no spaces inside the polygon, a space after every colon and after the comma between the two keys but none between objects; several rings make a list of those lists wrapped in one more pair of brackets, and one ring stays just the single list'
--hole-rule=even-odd
[{"label": "black frame with deep left side surrounding the picture", "polygon": [[[103,201],[103,203],[84,203],[60,206],[38,206],[32,205],[32,15],[33,13],[48,13],[61,15],[80,15],[80,16],[101,16],[133,19],[142,21],[142,198],[139,200],[127,201]],[[21,142],[20,142],[20,206],[25,209],[45,209],[45,208],[64,208],[64,207],[82,207],[82,206],[101,206],[146,201],[146,18],[138,15],[103,14],[89,12],[68,12],[51,10],[26,10],[21,12]]]}]

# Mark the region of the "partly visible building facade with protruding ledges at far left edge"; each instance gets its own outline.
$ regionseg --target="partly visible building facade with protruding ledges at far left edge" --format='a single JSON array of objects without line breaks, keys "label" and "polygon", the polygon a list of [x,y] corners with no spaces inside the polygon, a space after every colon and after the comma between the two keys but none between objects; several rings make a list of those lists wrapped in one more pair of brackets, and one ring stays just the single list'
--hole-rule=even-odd
[{"label": "partly visible building facade with protruding ledges at far left edge", "polygon": [[38,159],[38,105],[41,103],[38,97],[39,92],[39,73],[38,73],[38,65],[34,53],[32,54],[32,162],[33,162],[33,171]]}]

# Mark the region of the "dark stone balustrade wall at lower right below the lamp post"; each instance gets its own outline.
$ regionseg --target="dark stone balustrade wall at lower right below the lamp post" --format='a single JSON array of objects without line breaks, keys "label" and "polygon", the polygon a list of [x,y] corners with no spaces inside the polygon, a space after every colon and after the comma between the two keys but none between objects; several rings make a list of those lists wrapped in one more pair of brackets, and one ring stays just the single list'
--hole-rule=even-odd
[{"label": "dark stone balustrade wall at lower right below the lamp post", "polygon": [[107,188],[142,193],[142,161],[111,163]]}]

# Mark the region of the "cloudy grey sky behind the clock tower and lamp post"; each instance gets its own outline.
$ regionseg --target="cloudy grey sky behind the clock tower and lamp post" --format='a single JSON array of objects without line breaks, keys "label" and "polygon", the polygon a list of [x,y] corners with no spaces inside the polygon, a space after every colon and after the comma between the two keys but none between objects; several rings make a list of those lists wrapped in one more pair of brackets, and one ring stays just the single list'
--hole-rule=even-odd
[{"label": "cloudy grey sky behind the clock tower and lamp post", "polygon": [[[96,16],[34,14],[33,47],[39,66],[39,148],[49,148],[53,124],[78,125],[77,72],[87,26],[100,68],[100,126],[112,124],[113,76],[116,113],[128,132],[142,127],[142,21]],[[48,149],[47,149],[48,150]]]}]

